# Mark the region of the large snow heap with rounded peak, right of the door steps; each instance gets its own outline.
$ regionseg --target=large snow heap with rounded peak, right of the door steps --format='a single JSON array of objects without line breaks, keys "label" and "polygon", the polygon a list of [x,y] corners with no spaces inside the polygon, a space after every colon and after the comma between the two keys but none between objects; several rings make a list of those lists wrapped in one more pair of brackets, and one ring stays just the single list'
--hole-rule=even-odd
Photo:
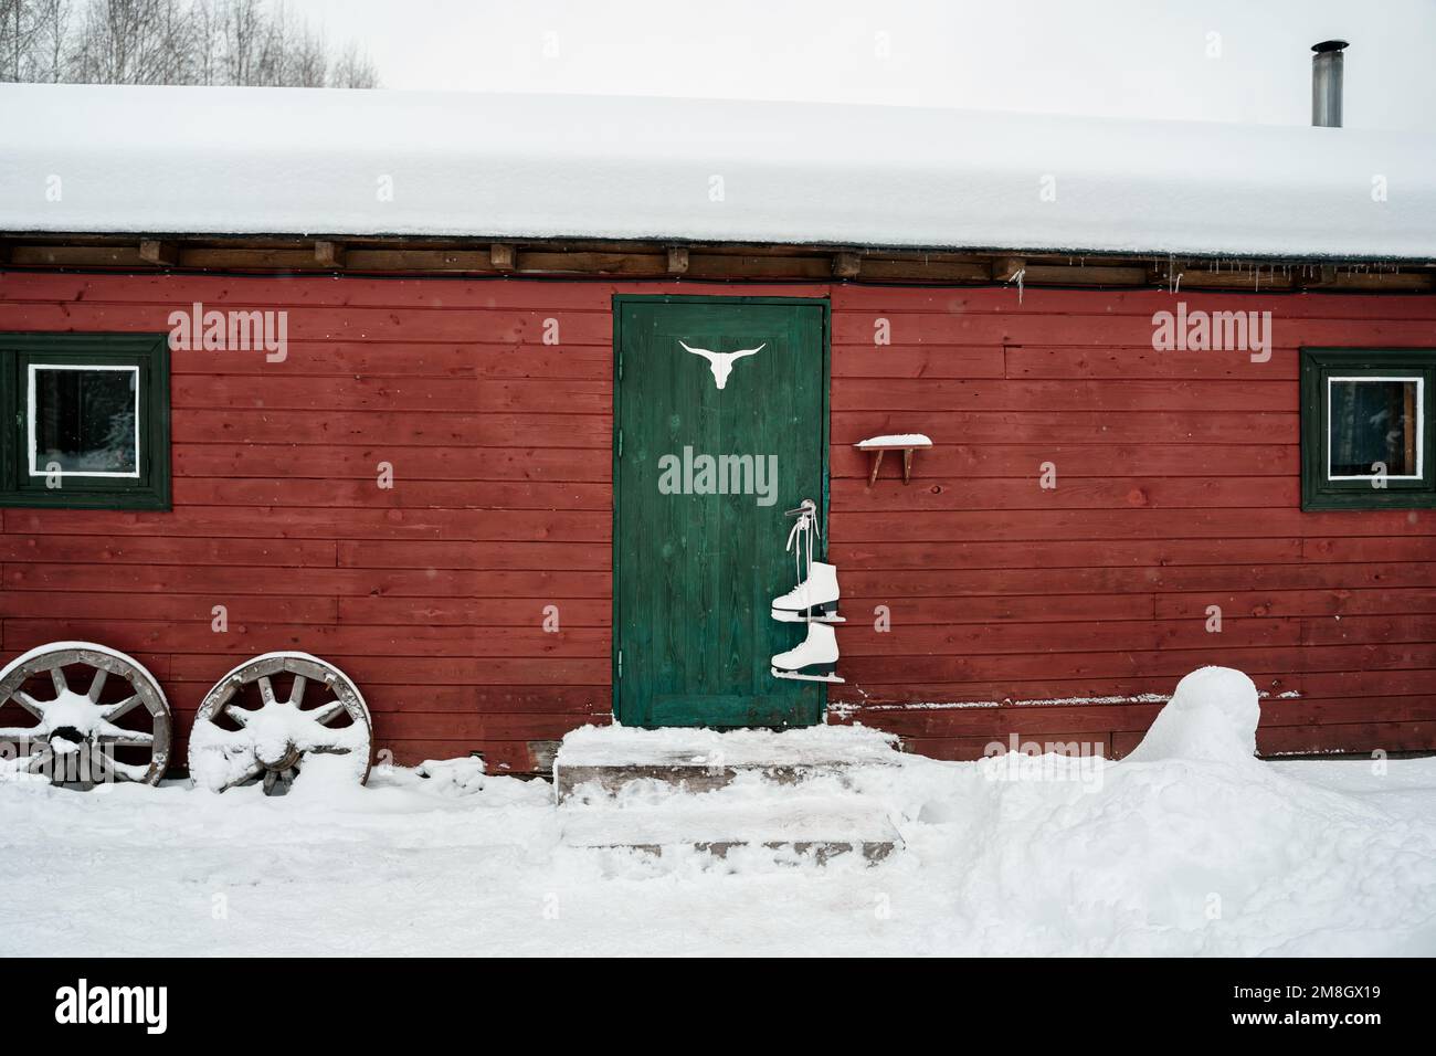
[{"label": "large snow heap with rounded peak, right of the door steps", "polygon": [[[958,892],[975,912],[946,941],[1024,954],[1436,950],[1436,826],[1256,760],[1258,717],[1246,675],[1200,668],[1100,780],[1061,760],[1047,780],[929,802],[954,856],[972,852]],[[1025,934],[998,927],[1014,918]]]}]

